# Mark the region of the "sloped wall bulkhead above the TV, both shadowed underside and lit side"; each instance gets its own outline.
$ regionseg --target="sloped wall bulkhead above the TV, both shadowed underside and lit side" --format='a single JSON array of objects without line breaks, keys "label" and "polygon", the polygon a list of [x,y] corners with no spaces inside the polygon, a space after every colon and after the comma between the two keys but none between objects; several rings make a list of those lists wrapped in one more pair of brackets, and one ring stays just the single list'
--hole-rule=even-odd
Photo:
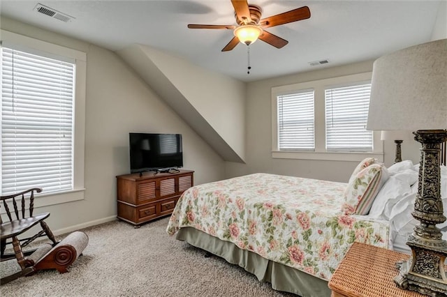
[{"label": "sloped wall bulkhead above the TV, both shadowed underside and lit side", "polygon": [[223,160],[244,162],[245,84],[147,45],[117,52]]}]

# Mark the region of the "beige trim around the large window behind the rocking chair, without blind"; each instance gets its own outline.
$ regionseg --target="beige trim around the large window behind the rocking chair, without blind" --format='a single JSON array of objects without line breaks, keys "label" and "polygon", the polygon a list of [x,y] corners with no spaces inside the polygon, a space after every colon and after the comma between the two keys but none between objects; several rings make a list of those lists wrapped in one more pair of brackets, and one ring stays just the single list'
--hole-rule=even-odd
[{"label": "beige trim around the large window behind the rocking chair, without blind", "polygon": [[[74,59],[75,102],[74,102],[74,134],[73,134],[73,190],[36,195],[35,207],[61,204],[84,199],[85,194],[85,102],[87,79],[87,54],[61,45],[54,45],[42,40],[22,36],[1,30],[1,43],[8,47],[13,45],[17,50],[28,51],[43,56],[65,56]],[[1,73],[0,73],[1,75]]]}]

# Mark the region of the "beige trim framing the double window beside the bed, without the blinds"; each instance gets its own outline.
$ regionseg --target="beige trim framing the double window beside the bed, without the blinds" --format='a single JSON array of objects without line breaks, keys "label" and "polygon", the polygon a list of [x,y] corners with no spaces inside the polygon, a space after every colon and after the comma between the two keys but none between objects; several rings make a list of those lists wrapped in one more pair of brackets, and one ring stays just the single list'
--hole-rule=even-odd
[{"label": "beige trim framing the double window beside the bed, without the blinds", "polygon": [[[325,139],[325,89],[335,86],[361,84],[370,82],[372,72],[358,73],[328,79],[319,79],[310,82],[300,82],[285,86],[272,87],[272,158],[301,159],[301,160],[335,160],[335,161],[361,161],[367,157],[374,157],[383,162],[383,143],[380,131],[373,131],[373,151],[327,151]],[[303,89],[314,89],[314,151],[279,151],[278,146],[278,117],[277,96],[282,93],[292,93]]]}]

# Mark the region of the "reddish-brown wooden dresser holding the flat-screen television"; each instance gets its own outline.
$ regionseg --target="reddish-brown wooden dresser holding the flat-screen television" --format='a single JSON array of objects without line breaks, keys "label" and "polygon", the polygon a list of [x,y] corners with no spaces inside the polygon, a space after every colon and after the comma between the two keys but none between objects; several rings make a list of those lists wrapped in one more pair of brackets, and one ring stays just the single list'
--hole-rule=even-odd
[{"label": "reddish-brown wooden dresser holding the flat-screen television", "polygon": [[140,227],[173,212],[180,195],[193,186],[193,171],[144,172],[117,176],[117,217]]}]

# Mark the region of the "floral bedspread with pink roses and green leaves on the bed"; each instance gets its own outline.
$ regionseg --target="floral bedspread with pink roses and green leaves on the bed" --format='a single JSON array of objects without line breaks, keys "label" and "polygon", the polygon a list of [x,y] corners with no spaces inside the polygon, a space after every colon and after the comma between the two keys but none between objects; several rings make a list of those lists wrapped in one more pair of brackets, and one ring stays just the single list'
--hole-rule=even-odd
[{"label": "floral bedspread with pink roses and green leaves on the bed", "polygon": [[354,241],[388,247],[388,224],[344,215],[346,183],[249,174],[180,197],[170,235],[194,227],[266,259],[329,280]]}]

